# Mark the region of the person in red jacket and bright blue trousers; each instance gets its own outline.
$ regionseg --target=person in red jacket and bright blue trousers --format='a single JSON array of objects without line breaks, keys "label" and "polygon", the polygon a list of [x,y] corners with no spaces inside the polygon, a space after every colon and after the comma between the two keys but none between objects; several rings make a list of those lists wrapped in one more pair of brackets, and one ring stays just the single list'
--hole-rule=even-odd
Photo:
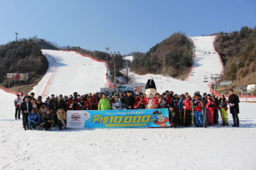
[{"label": "person in red jacket and bright blue trousers", "polygon": [[202,120],[202,103],[200,101],[200,98],[198,96],[195,96],[194,101],[194,113],[195,113],[195,125],[197,127],[203,127],[203,120]]}]

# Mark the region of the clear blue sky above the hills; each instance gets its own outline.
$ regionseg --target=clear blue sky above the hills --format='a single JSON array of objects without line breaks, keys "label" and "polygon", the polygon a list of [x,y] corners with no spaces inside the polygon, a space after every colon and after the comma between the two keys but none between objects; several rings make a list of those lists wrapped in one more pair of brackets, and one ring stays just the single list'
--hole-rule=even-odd
[{"label": "clear blue sky above the hills", "polygon": [[4,1],[0,45],[37,35],[86,50],[147,52],[171,34],[201,36],[256,26],[256,1]]}]

